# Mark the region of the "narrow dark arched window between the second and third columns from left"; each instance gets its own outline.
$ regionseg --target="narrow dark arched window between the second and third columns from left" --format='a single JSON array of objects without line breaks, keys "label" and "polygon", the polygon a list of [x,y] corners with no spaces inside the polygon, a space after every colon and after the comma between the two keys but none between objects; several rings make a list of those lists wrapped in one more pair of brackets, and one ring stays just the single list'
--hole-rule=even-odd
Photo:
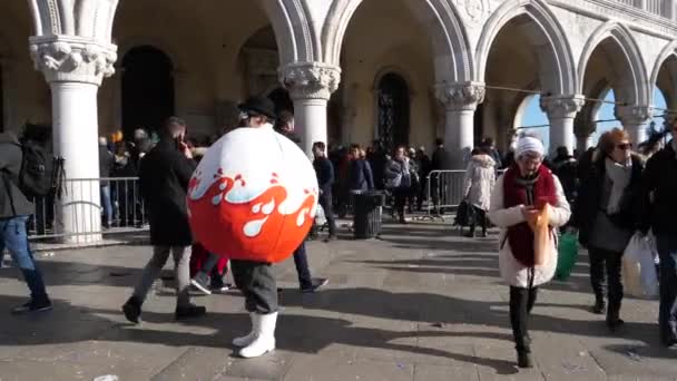
[{"label": "narrow dark arched window between the second and third columns from left", "polygon": [[400,75],[389,72],[379,81],[379,138],[392,149],[409,144],[409,87]]}]

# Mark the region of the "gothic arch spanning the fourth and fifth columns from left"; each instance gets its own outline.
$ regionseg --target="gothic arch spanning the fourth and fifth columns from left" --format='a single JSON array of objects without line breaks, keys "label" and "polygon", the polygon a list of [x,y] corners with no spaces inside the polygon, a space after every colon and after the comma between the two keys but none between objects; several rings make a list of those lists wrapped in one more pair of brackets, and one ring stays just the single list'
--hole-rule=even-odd
[{"label": "gothic arch spanning the fourth and fifth columns from left", "polygon": [[609,43],[614,50],[610,52],[614,55],[614,69],[629,80],[626,86],[615,88],[617,100],[628,105],[649,105],[653,87],[648,86],[647,69],[639,46],[626,26],[614,21],[599,27],[586,42],[578,65],[578,92],[583,90],[588,60],[602,43]]}]

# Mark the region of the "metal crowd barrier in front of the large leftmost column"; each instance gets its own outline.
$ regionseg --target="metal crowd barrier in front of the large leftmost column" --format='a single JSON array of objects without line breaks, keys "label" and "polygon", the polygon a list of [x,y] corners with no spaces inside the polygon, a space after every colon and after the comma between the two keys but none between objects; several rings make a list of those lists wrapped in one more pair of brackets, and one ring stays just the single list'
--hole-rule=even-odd
[{"label": "metal crowd barrier in front of the large leftmost column", "polygon": [[138,177],[63,179],[59,195],[33,199],[33,205],[28,224],[33,241],[92,242],[148,227]]}]

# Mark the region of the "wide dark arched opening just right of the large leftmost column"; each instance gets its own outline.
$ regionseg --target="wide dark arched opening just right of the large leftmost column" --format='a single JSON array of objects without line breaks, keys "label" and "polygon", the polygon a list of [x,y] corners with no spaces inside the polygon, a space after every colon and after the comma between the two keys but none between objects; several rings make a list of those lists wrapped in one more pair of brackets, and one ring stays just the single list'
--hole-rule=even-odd
[{"label": "wide dark arched opening just right of the large leftmost column", "polygon": [[174,115],[174,65],[151,46],[134,48],[122,59],[122,131],[155,130]]}]

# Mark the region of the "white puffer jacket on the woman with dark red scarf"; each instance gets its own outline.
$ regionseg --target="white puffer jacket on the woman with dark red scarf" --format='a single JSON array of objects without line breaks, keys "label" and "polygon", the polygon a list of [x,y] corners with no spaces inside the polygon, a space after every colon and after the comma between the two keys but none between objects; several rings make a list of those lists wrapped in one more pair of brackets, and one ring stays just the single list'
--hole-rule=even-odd
[{"label": "white puffer jacket on the woman with dark red scarf", "polygon": [[[552,240],[550,240],[550,255],[548,261],[542,266],[533,267],[533,283],[532,286],[538,286],[549,282],[555,276],[557,270],[557,228],[563,226],[571,216],[571,208],[565,196],[565,190],[557,176],[555,177],[555,186],[557,188],[557,205],[550,207],[550,226],[552,226]],[[491,208],[489,211],[489,219],[501,228],[499,236],[499,243],[502,248],[499,251],[499,266],[501,270],[501,276],[503,280],[516,287],[529,287],[529,279],[531,267],[527,267],[519,263],[510,248],[510,242],[507,240],[508,227],[521,224],[526,222],[524,215],[522,214],[523,205],[506,208],[503,206],[503,177],[501,176],[493,193],[491,194]]]}]

